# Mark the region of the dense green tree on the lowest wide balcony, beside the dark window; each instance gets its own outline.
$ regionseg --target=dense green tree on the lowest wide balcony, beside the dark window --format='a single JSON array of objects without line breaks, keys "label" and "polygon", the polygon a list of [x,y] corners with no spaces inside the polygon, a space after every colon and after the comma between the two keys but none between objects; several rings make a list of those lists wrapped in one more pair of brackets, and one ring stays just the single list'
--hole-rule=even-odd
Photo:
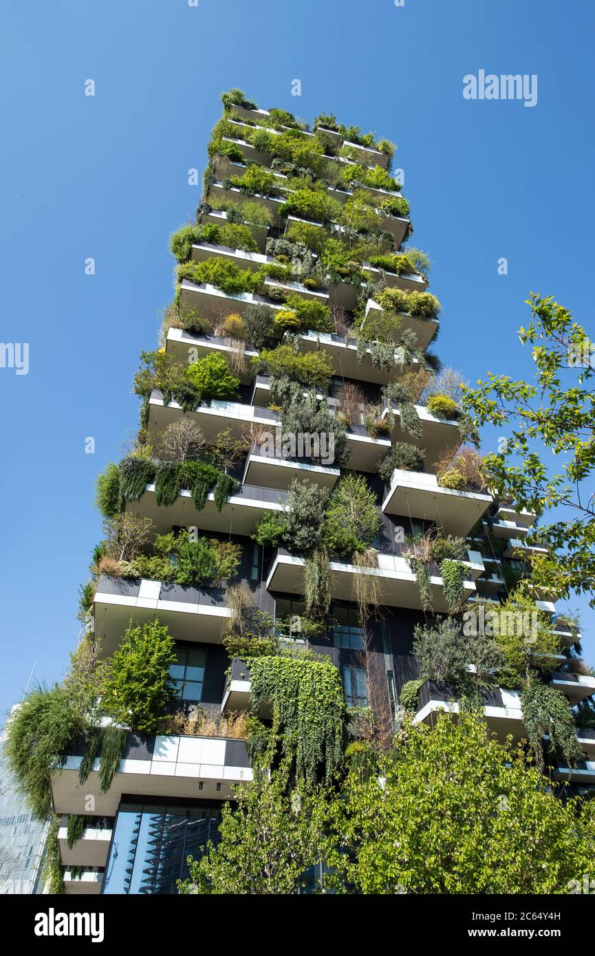
[{"label": "dense green tree on the lowest wide balcony, beside the dark window", "polygon": [[[169,676],[174,643],[158,619],[127,628],[109,660],[103,689],[103,706],[119,724],[142,733],[159,728],[175,691]],[[105,739],[102,745],[104,751]]]}]

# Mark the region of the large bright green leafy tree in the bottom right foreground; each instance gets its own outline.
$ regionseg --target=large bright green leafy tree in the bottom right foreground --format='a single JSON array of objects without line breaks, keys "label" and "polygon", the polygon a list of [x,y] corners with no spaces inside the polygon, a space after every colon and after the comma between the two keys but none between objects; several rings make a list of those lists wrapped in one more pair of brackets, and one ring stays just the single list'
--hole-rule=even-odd
[{"label": "large bright green leafy tree in the bottom right foreground", "polygon": [[340,892],[568,893],[592,872],[595,804],[561,800],[480,714],[410,727],[349,773],[326,858]]}]

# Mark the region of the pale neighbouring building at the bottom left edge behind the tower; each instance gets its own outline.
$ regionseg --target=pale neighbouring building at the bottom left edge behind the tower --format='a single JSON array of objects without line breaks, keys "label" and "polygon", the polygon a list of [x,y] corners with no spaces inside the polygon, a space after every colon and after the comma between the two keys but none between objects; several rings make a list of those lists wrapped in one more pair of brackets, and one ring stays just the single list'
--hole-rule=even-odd
[{"label": "pale neighbouring building at the bottom left edge behind the tower", "polygon": [[4,755],[5,740],[6,724],[0,736],[0,893],[41,893],[47,824],[33,817],[26,798],[16,789]]}]

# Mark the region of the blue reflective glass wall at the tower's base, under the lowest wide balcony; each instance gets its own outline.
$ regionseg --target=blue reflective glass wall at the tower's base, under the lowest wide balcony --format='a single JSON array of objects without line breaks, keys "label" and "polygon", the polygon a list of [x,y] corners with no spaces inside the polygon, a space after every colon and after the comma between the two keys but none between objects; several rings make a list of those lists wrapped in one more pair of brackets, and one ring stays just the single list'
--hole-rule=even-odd
[{"label": "blue reflective glass wall at the tower's base, under the lowest wide balcony", "polygon": [[187,858],[219,839],[221,807],[121,804],[110,846],[103,893],[176,893],[188,876]]}]

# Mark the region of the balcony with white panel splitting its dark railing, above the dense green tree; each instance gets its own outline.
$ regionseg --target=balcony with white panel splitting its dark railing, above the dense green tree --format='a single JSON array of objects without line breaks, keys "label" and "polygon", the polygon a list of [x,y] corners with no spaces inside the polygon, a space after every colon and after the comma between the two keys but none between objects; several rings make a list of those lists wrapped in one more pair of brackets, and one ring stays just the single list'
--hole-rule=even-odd
[{"label": "balcony with white panel splitting its dark railing, above the dense green tree", "polygon": [[99,577],[93,610],[102,657],[113,654],[130,621],[136,626],[159,616],[178,641],[217,643],[231,618],[223,588],[108,575]]}]

